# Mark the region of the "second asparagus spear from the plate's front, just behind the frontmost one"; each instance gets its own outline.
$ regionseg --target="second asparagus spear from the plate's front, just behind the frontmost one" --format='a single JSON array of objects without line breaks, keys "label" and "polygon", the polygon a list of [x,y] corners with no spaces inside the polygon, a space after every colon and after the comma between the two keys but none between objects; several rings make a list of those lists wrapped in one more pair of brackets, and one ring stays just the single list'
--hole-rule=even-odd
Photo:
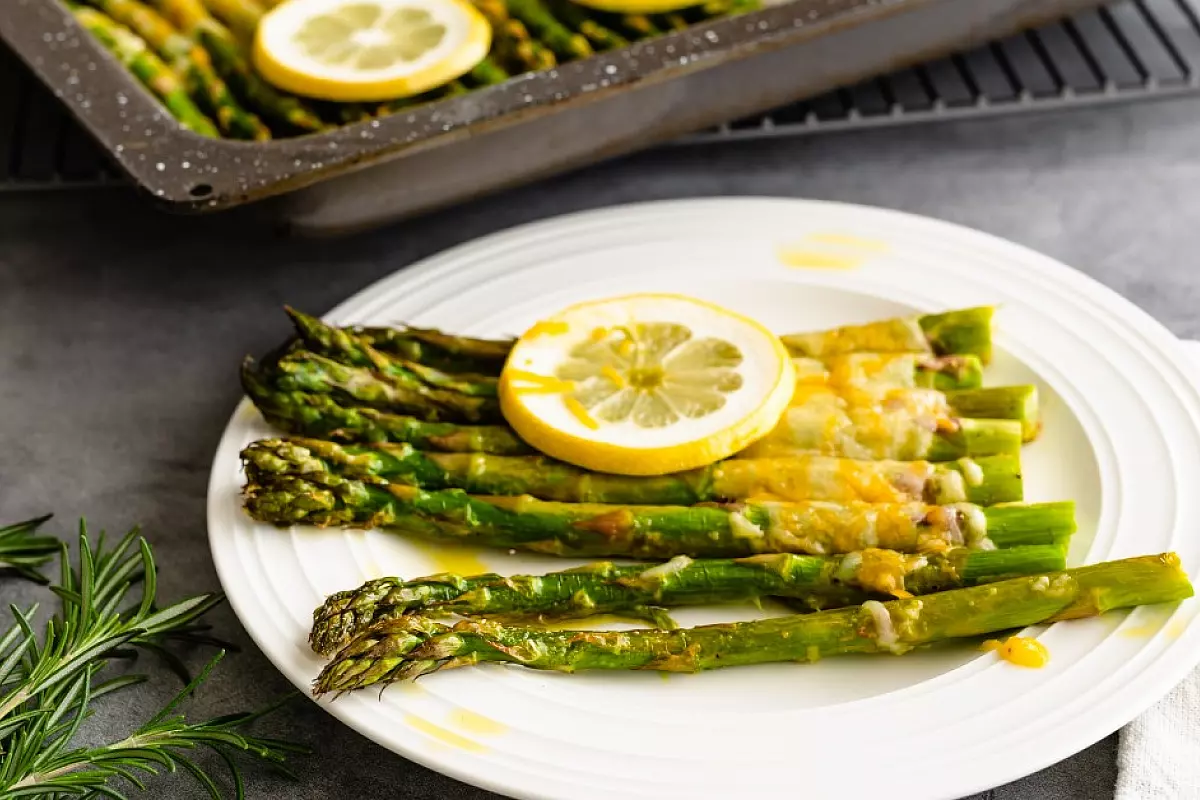
[{"label": "second asparagus spear from the plate's front, just behind the frontmost one", "polygon": [[317,652],[332,655],[367,628],[406,614],[546,620],[620,613],[659,622],[659,607],[767,596],[793,599],[806,609],[820,610],[1064,567],[1062,548],[1051,545],[958,549],[931,557],[880,549],[830,557],[778,553],[698,561],[679,555],[659,565],[596,561],[542,576],[379,578],[325,600],[313,612],[308,642]]}]

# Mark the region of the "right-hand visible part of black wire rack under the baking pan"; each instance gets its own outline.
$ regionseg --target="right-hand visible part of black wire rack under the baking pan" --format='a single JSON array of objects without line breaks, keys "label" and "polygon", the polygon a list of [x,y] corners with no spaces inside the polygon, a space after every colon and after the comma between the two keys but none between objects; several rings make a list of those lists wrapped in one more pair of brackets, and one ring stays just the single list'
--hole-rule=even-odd
[{"label": "right-hand visible part of black wire rack under the baking pan", "polygon": [[1200,0],[1124,0],[680,143],[794,136],[1200,90]]}]

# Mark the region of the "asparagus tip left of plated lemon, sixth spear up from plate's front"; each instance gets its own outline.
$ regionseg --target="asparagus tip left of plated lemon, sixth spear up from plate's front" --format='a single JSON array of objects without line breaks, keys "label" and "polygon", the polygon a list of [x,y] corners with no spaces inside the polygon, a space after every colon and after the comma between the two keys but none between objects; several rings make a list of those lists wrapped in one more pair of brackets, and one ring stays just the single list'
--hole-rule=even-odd
[{"label": "asparagus tip left of plated lemon, sixth spear up from plate's front", "polygon": [[352,367],[316,353],[295,350],[278,359],[271,369],[284,390],[330,395],[350,405],[420,415],[430,421],[502,421],[499,402],[432,387],[409,374],[383,375]]}]

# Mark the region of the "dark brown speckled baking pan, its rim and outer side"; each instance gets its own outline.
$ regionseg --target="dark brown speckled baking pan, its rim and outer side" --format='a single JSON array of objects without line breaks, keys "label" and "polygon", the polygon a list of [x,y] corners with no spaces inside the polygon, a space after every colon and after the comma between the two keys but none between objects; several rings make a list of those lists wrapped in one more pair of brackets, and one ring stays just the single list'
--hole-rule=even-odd
[{"label": "dark brown speckled baking pan, its rim and outer side", "polygon": [[0,0],[0,38],[139,187],[179,211],[268,200],[308,233],[448,205],[762,112],[1099,0],[793,0],[328,133],[181,128],[56,0]]}]

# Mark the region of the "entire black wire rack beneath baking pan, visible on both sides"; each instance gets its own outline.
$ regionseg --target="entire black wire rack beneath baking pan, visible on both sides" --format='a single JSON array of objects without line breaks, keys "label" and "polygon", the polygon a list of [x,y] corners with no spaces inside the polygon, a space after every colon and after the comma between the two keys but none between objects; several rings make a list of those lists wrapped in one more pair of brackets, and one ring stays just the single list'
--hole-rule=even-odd
[{"label": "entire black wire rack beneath baking pan, visible on both sides", "polygon": [[[978,49],[679,140],[868,126],[1164,97],[1200,90],[1200,0],[1123,0]],[[107,184],[116,170],[0,46],[0,190]]]}]

